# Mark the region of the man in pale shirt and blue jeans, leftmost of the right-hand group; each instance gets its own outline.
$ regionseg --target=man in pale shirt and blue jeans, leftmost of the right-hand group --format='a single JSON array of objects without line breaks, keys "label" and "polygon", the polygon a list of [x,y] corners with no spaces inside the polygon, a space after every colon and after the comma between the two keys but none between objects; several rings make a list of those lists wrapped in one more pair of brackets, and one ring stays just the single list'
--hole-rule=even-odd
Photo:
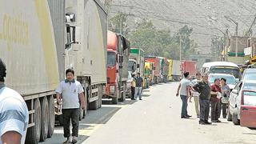
[{"label": "man in pale shirt and blue jeans, leftmost of the right-hand group", "polygon": [[184,78],[178,85],[178,90],[176,96],[178,97],[180,92],[180,97],[182,98],[182,115],[181,118],[190,118],[191,116],[187,114],[187,100],[190,97],[190,80],[189,78],[189,72],[185,72]]}]

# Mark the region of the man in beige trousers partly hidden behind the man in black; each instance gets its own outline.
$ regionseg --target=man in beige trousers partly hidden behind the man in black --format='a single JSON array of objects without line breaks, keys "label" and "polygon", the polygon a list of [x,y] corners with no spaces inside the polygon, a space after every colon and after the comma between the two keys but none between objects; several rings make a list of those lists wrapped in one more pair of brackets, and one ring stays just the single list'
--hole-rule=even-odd
[{"label": "man in beige trousers partly hidden behind the man in black", "polygon": [[196,74],[196,79],[194,79],[191,83],[190,86],[192,88],[193,91],[193,97],[194,97],[194,108],[195,108],[195,112],[197,114],[197,117],[200,118],[200,113],[199,113],[199,93],[197,91],[195,91],[193,89],[193,86],[195,86],[200,80],[201,80],[201,74],[198,73]]}]

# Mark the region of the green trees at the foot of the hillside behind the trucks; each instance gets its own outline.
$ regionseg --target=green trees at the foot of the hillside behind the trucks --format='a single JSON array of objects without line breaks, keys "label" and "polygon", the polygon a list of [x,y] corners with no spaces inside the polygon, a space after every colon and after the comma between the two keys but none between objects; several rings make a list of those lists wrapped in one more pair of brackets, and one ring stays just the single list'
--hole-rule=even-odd
[{"label": "green trees at the foot of the hillside behind the trucks", "polygon": [[110,18],[109,29],[117,33],[122,30],[122,34],[128,36],[130,45],[142,48],[146,55],[179,59],[180,35],[182,59],[187,59],[190,54],[194,54],[194,48],[197,47],[197,44],[190,39],[192,28],[183,26],[174,36],[171,36],[169,29],[158,30],[153,22],[143,19],[142,22],[136,24],[137,26],[133,31],[129,31],[126,20],[126,14],[116,14]]}]

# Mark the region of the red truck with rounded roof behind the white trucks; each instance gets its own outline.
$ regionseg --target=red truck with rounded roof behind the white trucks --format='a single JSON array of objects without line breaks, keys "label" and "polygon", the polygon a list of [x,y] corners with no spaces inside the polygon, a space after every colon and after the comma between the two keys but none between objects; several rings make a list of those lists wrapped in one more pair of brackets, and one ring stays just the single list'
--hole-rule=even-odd
[{"label": "red truck with rounded roof behind the white trucks", "polygon": [[107,85],[103,98],[112,98],[117,104],[126,100],[130,42],[112,31],[107,33]]}]

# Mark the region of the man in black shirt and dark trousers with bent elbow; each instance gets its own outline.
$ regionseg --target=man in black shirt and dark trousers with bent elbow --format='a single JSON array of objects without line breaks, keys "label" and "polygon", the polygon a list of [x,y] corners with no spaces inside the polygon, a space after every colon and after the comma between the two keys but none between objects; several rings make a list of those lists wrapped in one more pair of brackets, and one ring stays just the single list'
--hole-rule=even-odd
[{"label": "man in black shirt and dark trousers with bent elbow", "polygon": [[208,122],[210,113],[210,83],[208,82],[208,74],[204,74],[202,81],[199,81],[193,87],[199,93],[200,104],[200,121],[199,124],[211,124]]}]

